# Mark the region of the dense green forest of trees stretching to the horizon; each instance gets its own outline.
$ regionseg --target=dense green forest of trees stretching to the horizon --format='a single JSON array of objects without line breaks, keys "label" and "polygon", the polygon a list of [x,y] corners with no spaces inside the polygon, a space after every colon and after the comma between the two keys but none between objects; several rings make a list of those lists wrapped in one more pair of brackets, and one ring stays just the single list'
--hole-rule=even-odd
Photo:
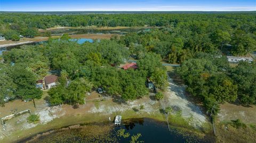
[{"label": "dense green forest of trees stretching to the horizon", "polygon": [[[84,92],[97,87],[105,88],[109,95],[133,100],[148,95],[147,78],[154,81],[157,88],[165,88],[167,75],[163,60],[181,64],[175,72],[187,85],[187,91],[201,100],[211,114],[216,114],[223,102],[256,104],[255,63],[240,62],[231,68],[226,58],[226,55],[249,55],[256,51],[255,13],[4,13],[0,14],[0,24],[1,32],[10,39],[19,34],[33,37],[38,28],[54,26],[163,27],[82,45],[63,35],[60,41],[50,39],[44,45],[4,52],[5,63],[0,65],[2,104],[6,95],[40,98],[38,95],[42,93],[35,89],[35,82],[50,70],[60,74],[60,85],[49,91],[52,104],[83,104]],[[116,68],[130,56],[138,60],[138,70]],[[11,62],[15,65],[11,66]]]}]

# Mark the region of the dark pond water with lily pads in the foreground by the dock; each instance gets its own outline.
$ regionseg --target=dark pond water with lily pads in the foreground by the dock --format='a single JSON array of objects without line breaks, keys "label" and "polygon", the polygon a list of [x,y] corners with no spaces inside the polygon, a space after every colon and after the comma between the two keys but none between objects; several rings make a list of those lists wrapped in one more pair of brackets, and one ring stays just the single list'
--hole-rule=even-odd
[{"label": "dark pond water with lily pads in the foreground by the dock", "polygon": [[[130,136],[124,138],[118,136],[119,131],[129,133]],[[205,139],[198,139],[191,134],[182,135],[177,130],[168,130],[166,123],[152,119],[132,119],[123,121],[121,127],[115,127],[113,123],[103,123],[94,126],[84,125],[81,129],[59,130],[41,136],[35,140],[25,139],[21,142],[130,142],[132,136],[141,134],[137,141],[149,143],[166,142],[211,142]],[[185,133],[186,134],[186,133]]]}]

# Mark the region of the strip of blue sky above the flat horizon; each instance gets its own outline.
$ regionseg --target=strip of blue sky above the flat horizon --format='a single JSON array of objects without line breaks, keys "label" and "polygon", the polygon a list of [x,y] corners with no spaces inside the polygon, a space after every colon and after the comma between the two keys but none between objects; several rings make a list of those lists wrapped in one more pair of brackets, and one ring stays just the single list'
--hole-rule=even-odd
[{"label": "strip of blue sky above the flat horizon", "polygon": [[256,0],[0,0],[0,11],[256,11]]}]

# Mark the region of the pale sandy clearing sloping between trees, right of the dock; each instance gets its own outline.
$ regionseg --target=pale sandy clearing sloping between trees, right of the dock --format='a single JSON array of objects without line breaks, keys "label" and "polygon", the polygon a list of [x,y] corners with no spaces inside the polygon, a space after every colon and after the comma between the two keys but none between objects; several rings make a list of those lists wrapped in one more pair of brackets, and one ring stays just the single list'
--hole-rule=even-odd
[{"label": "pale sandy clearing sloping between trees, right of the dock", "polygon": [[193,117],[191,124],[194,127],[201,127],[206,122],[206,115],[202,112],[201,107],[190,102],[185,95],[185,86],[176,85],[173,80],[168,77],[169,87],[165,92],[165,97],[161,100],[163,110],[165,107],[170,106],[174,112],[181,110],[181,115],[185,119]]}]

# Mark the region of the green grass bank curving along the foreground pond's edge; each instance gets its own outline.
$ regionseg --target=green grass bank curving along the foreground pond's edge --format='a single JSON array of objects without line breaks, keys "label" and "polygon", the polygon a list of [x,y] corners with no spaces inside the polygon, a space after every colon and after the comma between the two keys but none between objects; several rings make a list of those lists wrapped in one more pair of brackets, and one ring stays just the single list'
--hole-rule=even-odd
[{"label": "green grass bank curving along the foreground pond's edge", "polygon": [[[140,118],[140,117],[149,117],[151,119],[155,119],[158,121],[164,121],[164,115],[161,113],[156,114],[148,114],[146,112],[137,113],[133,110],[128,110],[125,112],[117,112],[115,114],[112,114],[111,120],[114,119],[116,115],[122,115],[123,120],[126,119],[132,119],[132,118]],[[17,130],[14,131],[10,137],[6,137],[1,142],[16,142],[18,140],[28,138],[30,136],[35,136],[38,133],[49,131],[52,129],[59,129],[62,127],[67,127],[69,125],[74,124],[86,124],[86,123],[97,123],[97,122],[108,122],[109,121],[109,115],[103,115],[100,113],[95,114],[76,114],[76,115],[67,115],[62,116],[58,119],[54,119],[51,122],[48,122],[46,124],[38,124],[34,128],[30,128],[27,130]]]}]

